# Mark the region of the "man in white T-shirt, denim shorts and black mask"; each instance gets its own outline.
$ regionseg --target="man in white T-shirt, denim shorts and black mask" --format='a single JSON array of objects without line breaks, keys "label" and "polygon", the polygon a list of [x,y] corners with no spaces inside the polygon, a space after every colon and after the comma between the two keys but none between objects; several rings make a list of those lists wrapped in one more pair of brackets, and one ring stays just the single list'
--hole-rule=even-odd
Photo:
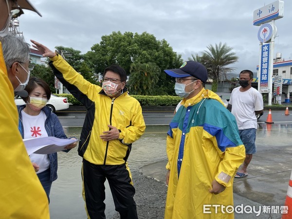
[{"label": "man in white T-shirt, denim shorts and black mask", "polygon": [[247,166],[250,164],[253,154],[256,153],[256,115],[263,112],[263,97],[259,91],[252,88],[254,73],[243,70],[239,73],[239,85],[233,89],[229,104],[232,106],[231,113],[235,116],[239,129],[240,139],[245,146],[246,157],[239,168],[236,178],[248,175]]}]

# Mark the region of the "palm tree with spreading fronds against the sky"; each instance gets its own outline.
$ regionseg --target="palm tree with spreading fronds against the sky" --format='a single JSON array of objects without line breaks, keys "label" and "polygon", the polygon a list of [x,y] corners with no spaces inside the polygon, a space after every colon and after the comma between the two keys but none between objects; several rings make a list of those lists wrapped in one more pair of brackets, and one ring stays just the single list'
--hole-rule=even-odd
[{"label": "palm tree with spreading fronds against the sky", "polygon": [[237,62],[238,56],[226,43],[222,45],[220,42],[219,45],[215,44],[215,47],[210,44],[207,49],[202,52],[201,63],[205,65],[209,77],[213,79],[212,91],[216,92],[218,82],[226,80],[226,74],[235,70],[235,68],[227,66]]}]

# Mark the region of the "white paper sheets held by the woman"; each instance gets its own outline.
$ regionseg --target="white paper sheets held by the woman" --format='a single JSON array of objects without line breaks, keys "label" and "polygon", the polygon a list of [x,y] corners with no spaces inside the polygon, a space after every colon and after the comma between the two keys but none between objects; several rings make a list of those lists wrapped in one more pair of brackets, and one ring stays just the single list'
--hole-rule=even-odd
[{"label": "white paper sheets held by the woman", "polygon": [[60,139],[56,137],[42,137],[42,138],[31,138],[23,139],[28,155],[32,153],[36,154],[51,154],[61,150],[74,142],[76,139]]}]

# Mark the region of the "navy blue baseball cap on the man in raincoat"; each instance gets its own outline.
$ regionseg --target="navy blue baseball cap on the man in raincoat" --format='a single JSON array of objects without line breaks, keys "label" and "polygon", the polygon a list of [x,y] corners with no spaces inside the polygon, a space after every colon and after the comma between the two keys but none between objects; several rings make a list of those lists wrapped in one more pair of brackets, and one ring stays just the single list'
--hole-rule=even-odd
[{"label": "navy blue baseball cap on the man in raincoat", "polygon": [[164,70],[171,77],[189,77],[194,76],[203,83],[208,80],[208,73],[201,63],[195,61],[186,61],[179,69]]}]

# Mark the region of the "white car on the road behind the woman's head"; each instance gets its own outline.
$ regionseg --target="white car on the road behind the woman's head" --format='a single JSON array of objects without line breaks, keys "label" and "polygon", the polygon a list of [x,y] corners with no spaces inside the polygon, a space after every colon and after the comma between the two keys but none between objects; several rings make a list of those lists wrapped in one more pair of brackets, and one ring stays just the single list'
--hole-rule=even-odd
[{"label": "white car on the road behind the woman's head", "polygon": [[[21,99],[20,96],[14,97],[14,102],[16,105],[24,105],[24,101]],[[47,107],[51,108],[52,112],[56,110],[66,110],[69,108],[69,103],[67,97],[55,96],[51,94],[51,98],[48,101]]]}]

